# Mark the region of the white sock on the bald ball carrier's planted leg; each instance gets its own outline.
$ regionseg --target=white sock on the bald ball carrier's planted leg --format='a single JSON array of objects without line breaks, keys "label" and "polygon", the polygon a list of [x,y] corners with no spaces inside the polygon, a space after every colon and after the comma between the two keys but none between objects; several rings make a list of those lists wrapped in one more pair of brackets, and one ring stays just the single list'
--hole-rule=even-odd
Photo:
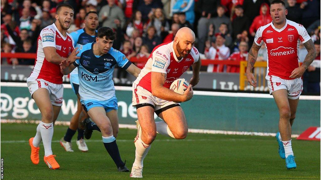
[{"label": "white sock on the bald ball carrier's planted leg", "polygon": [[135,142],[135,161],[133,166],[143,167],[143,160],[146,157],[149,149],[151,149],[151,144],[146,144],[142,141],[141,138],[137,139]]}]

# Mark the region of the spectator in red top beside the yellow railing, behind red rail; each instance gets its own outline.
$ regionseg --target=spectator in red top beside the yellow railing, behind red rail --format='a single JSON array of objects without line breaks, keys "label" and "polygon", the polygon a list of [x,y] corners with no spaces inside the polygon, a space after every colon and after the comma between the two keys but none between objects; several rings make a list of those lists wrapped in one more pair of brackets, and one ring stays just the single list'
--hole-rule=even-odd
[{"label": "spectator in red top beside the yellow railing, behind red rail", "polygon": [[[227,60],[230,61],[246,61],[247,60],[247,50],[248,50],[248,45],[247,42],[241,41],[239,44],[239,52],[232,53],[230,57]],[[240,67],[239,66],[233,66],[233,65],[228,65],[226,72],[240,72]]]}]

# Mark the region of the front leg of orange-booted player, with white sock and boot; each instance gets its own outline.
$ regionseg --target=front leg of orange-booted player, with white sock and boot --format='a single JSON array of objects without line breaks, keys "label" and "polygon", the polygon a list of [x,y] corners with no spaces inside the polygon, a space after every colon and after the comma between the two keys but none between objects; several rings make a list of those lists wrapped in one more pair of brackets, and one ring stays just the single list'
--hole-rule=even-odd
[{"label": "front leg of orange-booted player, with white sock and boot", "polygon": [[[44,161],[50,169],[58,169],[60,166],[55,160],[55,155],[52,154],[51,150],[51,140],[54,133],[54,123],[58,117],[60,108],[59,106],[51,105],[49,98],[49,92],[45,88],[40,88],[32,94],[33,99],[35,100],[40,112],[41,112],[41,121],[37,127],[37,134],[33,138],[32,145],[34,147],[39,147],[39,143],[43,142],[45,149]],[[54,119],[55,118],[55,119]],[[32,151],[31,151],[32,155]],[[34,155],[35,157],[35,155]],[[39,154],[38,154],[39,159]]]}]

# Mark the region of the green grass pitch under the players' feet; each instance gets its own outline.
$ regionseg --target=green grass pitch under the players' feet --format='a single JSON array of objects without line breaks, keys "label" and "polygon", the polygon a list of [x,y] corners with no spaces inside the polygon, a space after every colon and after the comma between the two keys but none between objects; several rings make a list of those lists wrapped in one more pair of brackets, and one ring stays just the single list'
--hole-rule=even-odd
[{"label": "green grass pitch under the players' feet", "polygon": [[[30,160],[28,139],[35,135],[35,124],[1,124],[1,158],[4,159],[4,179],[18,180],[81,180],[131,179],[129,173],[119,173],[94,131],[87,141],[88,152],[66,152],[59,144],[67,126],[55,126],[52,150],[57,155],[59,170],[50,170],[43,162]],[[117,144],[123,160],[131,169],[134,161],[136,130],[120,129]],[[320,142],[292,141],[297,168],[287,170],[277,151],[274,137],[245,135],[188,134],[184,140],[158,135],[144,160],[143,179],[170,180],[281,180],[320,179]]]}]

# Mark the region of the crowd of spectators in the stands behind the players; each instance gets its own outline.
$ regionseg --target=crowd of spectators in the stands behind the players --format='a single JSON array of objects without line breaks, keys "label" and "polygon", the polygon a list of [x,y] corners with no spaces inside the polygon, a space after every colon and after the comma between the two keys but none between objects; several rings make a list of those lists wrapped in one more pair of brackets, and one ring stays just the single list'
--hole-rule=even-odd
[{"label": "crowd of spectators in the stands behind the players", "polygon": [[[287,19],[301,23],[320,47],[320,1],[285,0]],[[181,27],[196,35],[202,59],[246,61],[256,30],[272,21],[269,0],[1,0],[1,52],[35,53],[40,30],[55,20],[56,6],[70,4],[75,20],[68,32],[84,28],[86,12],[99,14],[99,27],[117,32],[113,47],[131,57],[148,57],[152,49],[174,39]],[[98,27],[98,28],[99,28]],[[317,48],[316,48],[317,49]],[[305,76],[320,82],[320,48]],[[299,61],[307,50],[300,45]],[[257,61],[266,61],[263,45]],[[33,65],[34,59],[1,58],[1,64]],[[143,68],[144,63],[136,63]],[[239,72],[239,67],[209,65],[207,72]],[[115,83],[126,82],[118,71]]]}]

